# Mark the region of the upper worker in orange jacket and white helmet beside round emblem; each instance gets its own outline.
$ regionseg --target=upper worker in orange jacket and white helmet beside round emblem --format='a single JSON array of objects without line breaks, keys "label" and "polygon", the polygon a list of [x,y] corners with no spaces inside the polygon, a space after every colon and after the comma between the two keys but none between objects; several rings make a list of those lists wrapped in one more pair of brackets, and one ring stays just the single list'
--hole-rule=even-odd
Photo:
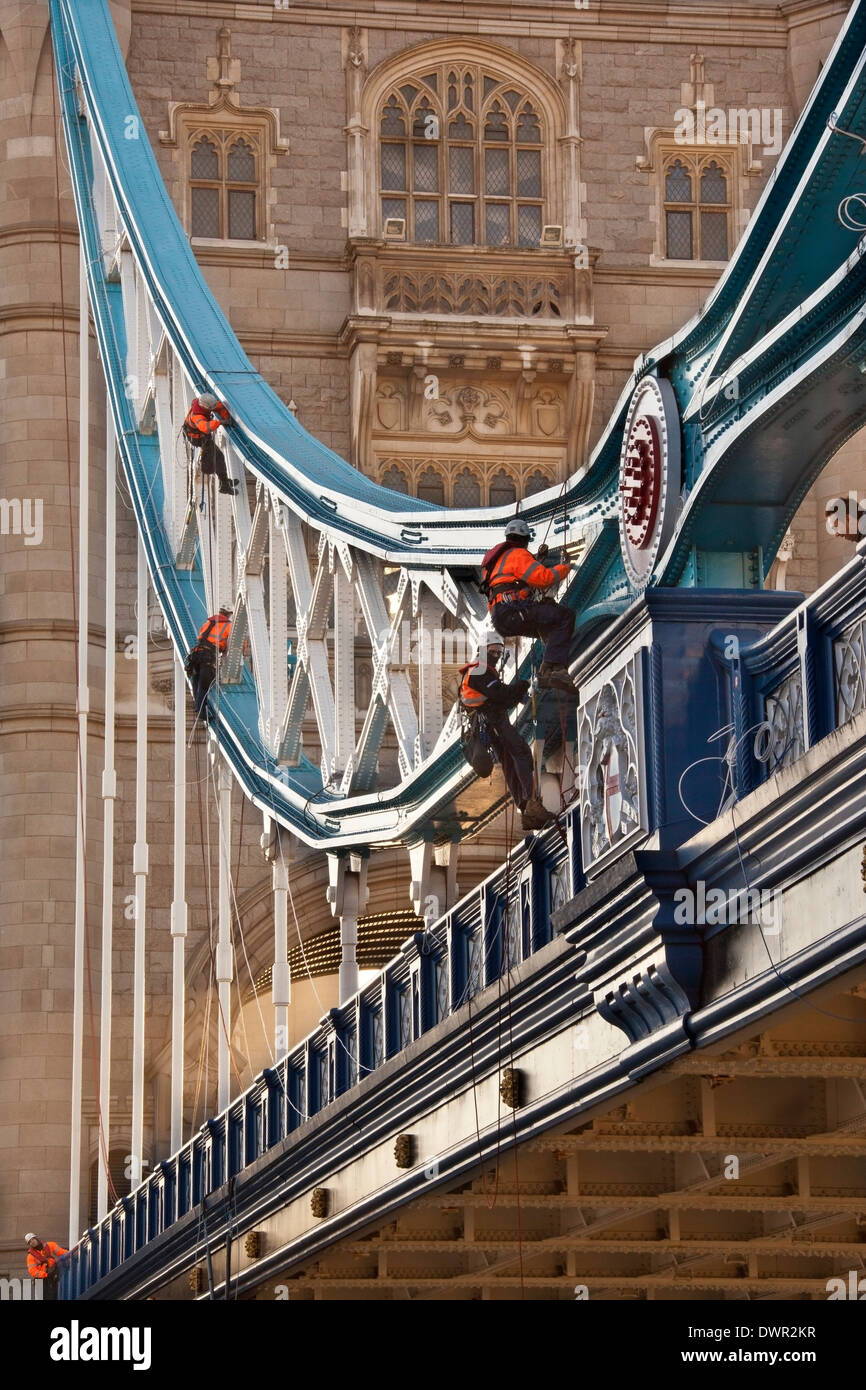
[{"label": "upper worker in orange jacket and white helmet beside round emblem", "polygon": [[538,671],[542,689],[574,694],[569,674],[574,612],[553,598],[546,598],[571,569],[555,564],[548,569],[527,549],[530,527],[523,517],[512,517],[505,541],[488,550],[481,562],[491,621],[500,637],[541,637],[545,655]]}]

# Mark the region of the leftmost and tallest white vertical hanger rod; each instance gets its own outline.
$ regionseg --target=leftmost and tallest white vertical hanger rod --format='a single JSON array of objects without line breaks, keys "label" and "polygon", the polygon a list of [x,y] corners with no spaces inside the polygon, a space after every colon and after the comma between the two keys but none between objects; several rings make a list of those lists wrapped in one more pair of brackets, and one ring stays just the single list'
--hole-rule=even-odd
[{"label": "leftmost and tallest white vertical hanger rod", "polygon": [[88,585],[90,578],[90,354],[83,250],[78,277],[78,785],[75,796],[75,954],[72,967],[72,1120],[70,1134],[70,1245],[81,1234],[81,1098],[85,1023],[85,855],[88,831]]}]

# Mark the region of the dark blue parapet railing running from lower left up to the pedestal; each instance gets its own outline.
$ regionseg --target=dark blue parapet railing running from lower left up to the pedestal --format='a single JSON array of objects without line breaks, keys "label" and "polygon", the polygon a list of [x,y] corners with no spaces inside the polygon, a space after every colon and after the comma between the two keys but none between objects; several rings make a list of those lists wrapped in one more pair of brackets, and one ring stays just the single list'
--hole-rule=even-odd
[{"label": "dark blue parapet railing running from lower left up to the pedestal", "polygon": [[[61,1297],[82,1297],[90,1290],[96,1297],[104,1295],[97,1289],[100,1279],[142,1255],[170,1227],[177,1225],[188,1233],[189,1218],[197,1222],[196,1211],[204,1198],[231,1179],[267,1162],[286,1143],[296,1154],[303,1140],[306,1154],[309,1137],[321,1130],[334,1102],[350,1091],[359,1099],[371,1094],[379,1074],[393,1077],[391,1061],[399,1059],[399,1070],[407,1048],[423,1042],[439,1023],[464,1016],[467,1001],[496,984],[509,967],[531,962],[550,941],[552,881],[562,884],[566,897],[582,884],[570,827],[567,838],[569,851],[556,831],[546,831],[516,852],[510,865],[480,884],[434,927],[417,931],[378,980],[331,1009],[327,1020],[277,1066],[265,1069],[227,1111],[206,1120],[195,1138],[161,1162],[135,1193],[122,1197],[71,1251]],[[520,905],[523,917],[518,959],[503,949],[507,901]],[[474,974],[468,942],[478,944]],[[438,988],[441,972],[448,977],[445,994]],[[560,992],[563,986],[564,1008],[570,1008],[566,976]],[[406,1015],[406,1031],[400,1029],[402,998],[416,1001]],[[381,1051],[377,1017],[384,1022]],[[350,1040],[357,1044],[354,1052]],[[481,1034],[475,1047],[481,1065],[485,1056]],[[386,1123],[384,1112],[379,1123]],[[328,1145],[324,1156],[334,1158]]]}]

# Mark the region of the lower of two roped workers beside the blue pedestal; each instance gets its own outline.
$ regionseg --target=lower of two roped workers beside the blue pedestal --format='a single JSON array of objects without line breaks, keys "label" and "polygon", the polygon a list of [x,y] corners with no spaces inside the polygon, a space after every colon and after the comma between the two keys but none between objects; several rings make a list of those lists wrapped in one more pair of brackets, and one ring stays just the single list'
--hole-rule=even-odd
[{"label": "lower of two roped workers beside the blue pedestal", "polygon": [[460,708],[466,713],[468,737],[463,741],[463,756],[480,777],[493,770],[489,753],[502,766],[506,787],[521,812],[524,831],[541,830],[550,821],[541,799],[534,794],[532,753],[524,738],[509,721],[509,710],[525,698],[528,681],[499,678],[499,664],[505,648],[496,632],[485,631],[478,648],[478,660],[460,667]]}]

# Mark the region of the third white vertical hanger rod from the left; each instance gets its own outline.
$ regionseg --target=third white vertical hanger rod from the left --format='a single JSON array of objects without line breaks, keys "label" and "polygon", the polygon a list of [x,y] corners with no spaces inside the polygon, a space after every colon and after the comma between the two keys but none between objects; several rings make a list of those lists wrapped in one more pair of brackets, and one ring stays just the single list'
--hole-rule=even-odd
[{"label": "third white vertical hanger rod from the left", "polygon": [[132,1180],[140,1183],[145,1144],[145,919],[147,908],[147,563],[138,543],[138,674],[135,687],[135,954],[132,970]]}]

